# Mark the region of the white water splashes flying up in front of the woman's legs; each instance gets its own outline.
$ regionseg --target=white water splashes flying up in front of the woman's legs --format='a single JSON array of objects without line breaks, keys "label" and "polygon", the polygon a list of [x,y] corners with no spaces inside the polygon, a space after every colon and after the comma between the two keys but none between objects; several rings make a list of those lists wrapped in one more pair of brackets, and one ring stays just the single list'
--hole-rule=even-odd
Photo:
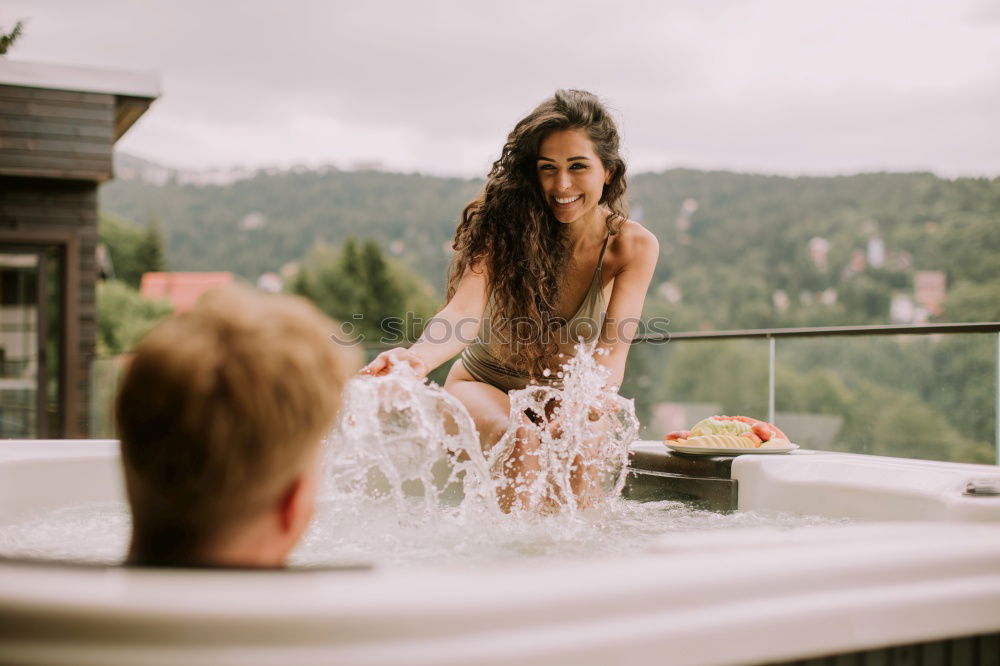
[{"label": "white water splashes flying up in front of the woman's legs", "polygon": [[464,406],[409,365],[355,378],[327,442],[330,499],[385,499],[410,520],[433,520],[449,505],[490,512],[513,495],[519,502],[505,510],[592,508],[621,491],[639,430],[632,401],[605,387],[609,372],[594,345],[580,343],[557,373],[560,388],[509,394],[510,426],[486,457]]}]

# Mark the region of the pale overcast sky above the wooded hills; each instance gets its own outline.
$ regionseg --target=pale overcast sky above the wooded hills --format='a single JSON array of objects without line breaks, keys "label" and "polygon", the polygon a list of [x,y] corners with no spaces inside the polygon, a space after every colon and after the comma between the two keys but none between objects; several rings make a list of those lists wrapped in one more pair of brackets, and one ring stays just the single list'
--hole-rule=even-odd
[{"label": "pale overcast sky above the wooded hills", "polygon": [[557,88],[630,169],[1000,175],[1000,0],[3,0],[11,60],[153,70],[119,142],[189,169],[481,176]]}]

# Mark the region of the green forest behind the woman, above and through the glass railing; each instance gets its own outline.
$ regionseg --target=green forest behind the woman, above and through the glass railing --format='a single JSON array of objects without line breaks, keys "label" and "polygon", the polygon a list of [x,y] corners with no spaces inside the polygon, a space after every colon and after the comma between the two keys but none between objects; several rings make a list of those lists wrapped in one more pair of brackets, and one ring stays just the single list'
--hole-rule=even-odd
[{"label": "green forest behind the woman, above and through the glass railing", "polygon": [[[441,305],[481,185],[375,171],[114,181],[100,206],[162,234],[170,270],[280,273],[341,320],[381,322]],[[1000,320],[1000,179],[671,170],[633,176],[628,199],[661,245],[644,316],[671,332]],[[915,289],[922,276],[940,293]],[[767,358],[757,341],[636,345],[622,393],[647,438],[662,437],[664,403],[764,417]],[[781,341],[779,425],[805,446],[993,462],[996,367],[991,334]]]}]

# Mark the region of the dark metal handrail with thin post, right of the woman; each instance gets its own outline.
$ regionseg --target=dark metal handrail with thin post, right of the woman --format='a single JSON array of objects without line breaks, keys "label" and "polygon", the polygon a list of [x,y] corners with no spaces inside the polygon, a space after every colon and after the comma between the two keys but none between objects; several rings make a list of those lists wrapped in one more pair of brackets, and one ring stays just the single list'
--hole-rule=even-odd
[{"label": "dark metal handrail with thin post, right of the woman", "polygon": [[993,333],[996,336],[995,426],[996,461],[1000,464],[1000,322],[970,324],[923,324],[903,326],[817,326],[810,328],[761,328],[733,331],[685,331],[657,335],[637,335],[634,343],[665,343],[691,340],[765,339],[768,341],[767,420],[774,423],[775,357],[778,338],[833,338],[883,335],[943,335]]}]

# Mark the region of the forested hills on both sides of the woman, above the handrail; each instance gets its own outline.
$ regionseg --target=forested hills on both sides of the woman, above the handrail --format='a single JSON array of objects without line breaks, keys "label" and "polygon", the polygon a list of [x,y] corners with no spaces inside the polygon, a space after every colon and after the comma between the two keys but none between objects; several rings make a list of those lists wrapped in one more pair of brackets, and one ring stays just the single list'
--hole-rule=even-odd
[{"label": "forested hills on both sides of the woman, above the handrail", "polygon": [[[158,221],[172,269],[254,280],[356,236],[439,292],[458,216],[482,184],[336,170],[177,180],[100,192],[102,211]],[[661,240],[650,307],[669,310],[674,330],[1000,319],[1000,179],[671,170],[632,176],[628,195]],[[943,277],[948,300],[916,293],[920,275]]]}]

